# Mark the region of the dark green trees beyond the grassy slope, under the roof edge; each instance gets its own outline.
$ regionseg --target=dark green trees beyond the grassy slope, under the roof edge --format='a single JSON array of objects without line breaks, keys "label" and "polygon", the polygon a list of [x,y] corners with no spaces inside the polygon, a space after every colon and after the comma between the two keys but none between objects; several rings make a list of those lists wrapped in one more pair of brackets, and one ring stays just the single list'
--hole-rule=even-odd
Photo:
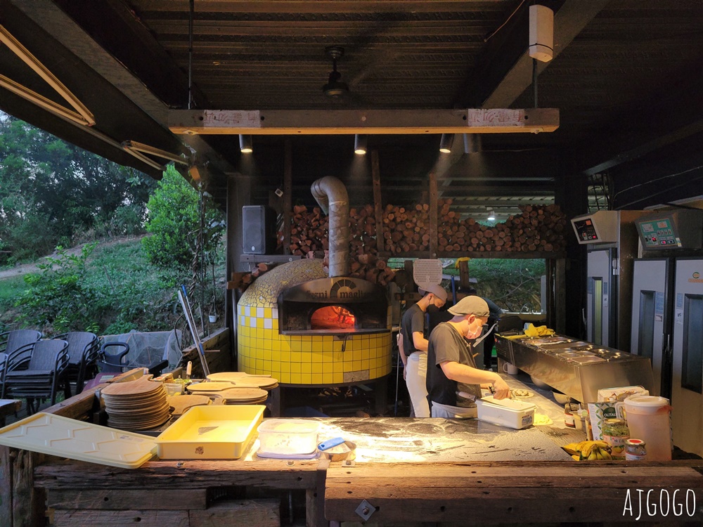
[{"label": "dark green trees beyond the grassy slope, under the roof edge", "polygon": [[[0,112],[0,258],[43,256],[103,225],[134,230],[124,221],[141,226],[154,187],[141,172]],[[122,223],[111,223],[124,208]]]}]

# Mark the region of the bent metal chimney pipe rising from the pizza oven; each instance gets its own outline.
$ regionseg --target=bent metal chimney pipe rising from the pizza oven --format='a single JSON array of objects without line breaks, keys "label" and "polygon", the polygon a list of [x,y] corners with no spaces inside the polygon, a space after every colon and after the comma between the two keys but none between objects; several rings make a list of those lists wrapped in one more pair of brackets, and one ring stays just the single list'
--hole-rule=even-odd
[{"label": "bent metal chimney pipe rising from the pizza oven", "polygon": [[330,216],[330,278],[349,276],[349,195],[337,178],[327,176],[315,181],[310,191]]}]

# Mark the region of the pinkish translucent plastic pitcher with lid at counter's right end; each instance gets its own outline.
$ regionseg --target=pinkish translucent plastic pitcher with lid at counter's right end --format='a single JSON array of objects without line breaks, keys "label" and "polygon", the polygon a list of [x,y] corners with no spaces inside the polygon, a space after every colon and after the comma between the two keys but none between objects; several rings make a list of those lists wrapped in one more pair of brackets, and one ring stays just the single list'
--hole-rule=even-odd
[{"label": "pinkish translucent plastic pitcher with lid at counter's right end", "polygon": [[623,401],[630,437],[642,439],[648,461],[671,461],[671,406],[658,396],[629,396]]}]

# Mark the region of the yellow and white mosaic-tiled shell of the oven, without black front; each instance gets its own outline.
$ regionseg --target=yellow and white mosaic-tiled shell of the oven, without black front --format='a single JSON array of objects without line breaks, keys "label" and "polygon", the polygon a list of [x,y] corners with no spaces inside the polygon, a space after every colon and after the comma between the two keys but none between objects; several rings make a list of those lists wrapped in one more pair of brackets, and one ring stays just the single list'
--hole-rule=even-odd
[{"label": "yellow and white mosaic-tiled shell of the oven, without black front", "polygon": [[321,260],[297,260],[262,275],[237,306],[238,370],[270,374],[282,384],[349,384],[391,372],[392,334],[278,333],[278,293],[292,285],[325,278]]}]

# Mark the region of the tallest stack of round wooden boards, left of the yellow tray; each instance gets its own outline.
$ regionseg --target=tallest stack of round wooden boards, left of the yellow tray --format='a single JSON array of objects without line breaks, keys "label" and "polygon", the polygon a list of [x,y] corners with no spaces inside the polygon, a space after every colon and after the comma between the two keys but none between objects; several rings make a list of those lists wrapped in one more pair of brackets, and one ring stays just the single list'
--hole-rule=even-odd
[{"label": "tallest stack of round wooden boards, left of the yellow tray", "polygon": [[171,417],[167,393],[161,382],[149,377],[110,384],[101,391],[108,426],[122,430],[148,430],[164,424]]}]

